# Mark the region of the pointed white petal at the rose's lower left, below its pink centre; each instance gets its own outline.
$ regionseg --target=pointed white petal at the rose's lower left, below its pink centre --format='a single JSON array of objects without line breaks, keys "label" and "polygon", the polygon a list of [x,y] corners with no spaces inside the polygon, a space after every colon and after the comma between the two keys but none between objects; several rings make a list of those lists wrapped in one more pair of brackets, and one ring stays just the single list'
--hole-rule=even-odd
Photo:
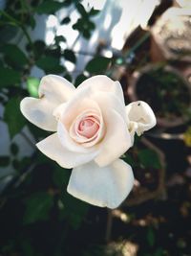
[{"label": "pointed white petal at the rose's lower left, below its pink centre", "polygon": [[90,162],[97,154],[97,151],[87,153],[67,151],[59,142],[57,133],[38,142],[36,147],[64,168],[73,168]]}]

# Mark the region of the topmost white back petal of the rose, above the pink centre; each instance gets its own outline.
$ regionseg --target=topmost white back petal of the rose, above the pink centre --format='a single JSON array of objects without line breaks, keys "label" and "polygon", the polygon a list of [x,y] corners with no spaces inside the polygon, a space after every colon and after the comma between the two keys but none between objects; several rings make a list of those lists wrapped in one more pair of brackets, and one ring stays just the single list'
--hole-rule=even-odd
[{"label": "topmost white back petal of the rose, above the pink centre", "polygon": [[79,84],[76,91],[81,89],[89,89],[91,90],[91,94],[94,94],[98,91],[107,93],[111,92],[119,98],[121,103],[124,103],[124,96],[120,82],[113,81],[104,75],[94,76],[90,79],[87,79],[86,81],[83,81],[81,84]]}]

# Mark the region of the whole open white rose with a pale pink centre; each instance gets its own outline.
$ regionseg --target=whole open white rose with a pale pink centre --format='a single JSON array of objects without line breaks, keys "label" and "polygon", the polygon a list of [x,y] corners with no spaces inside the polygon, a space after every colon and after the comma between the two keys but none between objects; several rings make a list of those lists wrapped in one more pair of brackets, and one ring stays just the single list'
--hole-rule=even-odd
[{"label": "whole open white rose with a pale pink centre", "polygon": [[27,97],[20,105],[34,125],[55,131],[36,146],[60,166],[73,168],[67,191],[109,208],[116,208],[134,184],[132,168],[118,158],[132,146],[138,127],[141,132],[149,128],[145,116],[154,115],[149,106],[140,112],[138,106],[125,107],[120,83],[106,76],[92,77],[75,89],[54,75],[41,80],[39,99]]}]

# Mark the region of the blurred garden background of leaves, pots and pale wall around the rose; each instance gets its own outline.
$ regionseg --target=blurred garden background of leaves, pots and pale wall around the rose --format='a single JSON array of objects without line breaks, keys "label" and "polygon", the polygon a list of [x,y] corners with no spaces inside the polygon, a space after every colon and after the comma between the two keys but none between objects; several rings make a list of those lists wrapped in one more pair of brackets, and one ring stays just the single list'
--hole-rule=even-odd
[{"label": "blurred garden background of leaves, pots and pale wall around the rose", "polygon": [[[66,192],[20,101],[40,79],[120,81],[156,128],[123,155],[136,177],[115,210]],[[0,255],[191,256],[191,1],[0,0]]]}]

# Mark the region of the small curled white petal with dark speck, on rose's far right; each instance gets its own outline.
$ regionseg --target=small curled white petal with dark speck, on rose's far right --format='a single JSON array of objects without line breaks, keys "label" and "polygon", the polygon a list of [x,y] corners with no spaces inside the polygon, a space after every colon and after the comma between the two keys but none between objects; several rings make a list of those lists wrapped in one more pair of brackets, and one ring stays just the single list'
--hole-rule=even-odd
[{"label": "small curled white petal with dark speck, on rose's far right", "polygon": [[138,101],[126,105],[126,114],[130,121],[131,133],[141,135],[145,130],[156,126],[157,121],[151,107],[145,102]]}]

